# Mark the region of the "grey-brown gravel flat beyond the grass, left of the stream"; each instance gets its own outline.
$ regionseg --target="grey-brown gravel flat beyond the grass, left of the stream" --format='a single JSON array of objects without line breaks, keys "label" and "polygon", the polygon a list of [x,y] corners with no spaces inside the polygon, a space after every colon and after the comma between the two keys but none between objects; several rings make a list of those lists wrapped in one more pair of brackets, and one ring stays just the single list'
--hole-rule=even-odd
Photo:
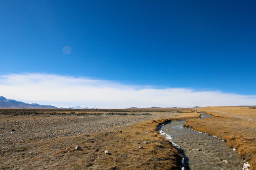
[{"label": "grey-brown gravel flat beyond the grass, left of the stream", "polygon": [[0,149],[33,145],[40,141],[47,142],[51,138],[119,130],[138,122],[174,115],[0,115]]}]

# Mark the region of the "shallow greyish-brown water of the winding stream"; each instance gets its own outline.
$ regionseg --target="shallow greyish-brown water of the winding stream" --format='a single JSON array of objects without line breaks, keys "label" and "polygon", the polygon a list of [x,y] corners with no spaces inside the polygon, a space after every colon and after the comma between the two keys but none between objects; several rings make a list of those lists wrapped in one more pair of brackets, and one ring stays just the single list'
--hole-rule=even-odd
[{"label": "shallow greyish-brown water of the winding stream", "polygon": [[[210,115],[201,113],[202,118]],[[183,127],[185,120],[174,121],[161,127],[171,136],[176,149],[183,155],[185,170],[241,170],[243,160],[226,142]]]}]

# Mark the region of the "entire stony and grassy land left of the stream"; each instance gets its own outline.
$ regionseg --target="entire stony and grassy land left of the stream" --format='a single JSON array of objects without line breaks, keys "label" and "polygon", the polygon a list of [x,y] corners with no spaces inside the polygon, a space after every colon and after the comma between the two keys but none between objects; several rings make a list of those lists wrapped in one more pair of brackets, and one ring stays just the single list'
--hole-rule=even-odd
[{"label": "entire stony and grassy land left of the stream", "polygon": [[189,109],[39,111],[0,115],[0,169],[180,169],[181,155],[158,126],[200,117]]}]

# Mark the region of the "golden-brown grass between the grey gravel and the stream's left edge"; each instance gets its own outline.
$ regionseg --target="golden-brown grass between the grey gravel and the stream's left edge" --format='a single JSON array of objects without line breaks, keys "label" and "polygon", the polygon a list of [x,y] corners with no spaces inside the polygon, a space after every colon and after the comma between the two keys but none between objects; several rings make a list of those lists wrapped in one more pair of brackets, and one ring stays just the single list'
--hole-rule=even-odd
[{"label": "golden-brown grass between the grey gravel and the stream's left edge", "polygon": [[[181,113],[171,118],[189,119],[199,117],[197,113]],[[100,133],[87,136],[80,140],[82,151],[74,151],[75,145],[69,153],[61,151],[55,156],[76,158],[73,163],[62,161],[55,163],[52,169],[77,170],[178,170],[181,169],[181,155],[172,147],[170,142],[159,134],[158,126],[171,119],[156,119],[129,126],[119,132]],[[81,136],[82,137],[82,136]],[[76,141],[73,138],[71,141]],[[93,143],[91,143],[93,141]],[[148,144],[145,144],[145,142]],[[76,141],[76,144],[79,143]],[[143,146],[139,149],[139,146]],[[65,146],[66,147],[66,146]],[[110,155],[104,153],[105,150]]]}]

